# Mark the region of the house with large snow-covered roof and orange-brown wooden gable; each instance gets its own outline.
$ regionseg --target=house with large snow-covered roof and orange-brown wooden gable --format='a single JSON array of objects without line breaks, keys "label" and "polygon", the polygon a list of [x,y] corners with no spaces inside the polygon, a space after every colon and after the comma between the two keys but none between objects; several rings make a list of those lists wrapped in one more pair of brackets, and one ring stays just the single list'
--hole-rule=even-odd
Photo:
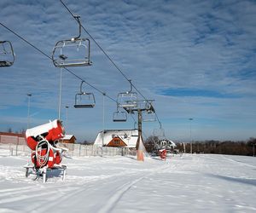
[{"label": "house with large snow-covered roof and orange-brown wooden gable", "polygon": [[130,147],[135,148],[138,130],[104,130],[99,132],[94,142],[98,147]]}]

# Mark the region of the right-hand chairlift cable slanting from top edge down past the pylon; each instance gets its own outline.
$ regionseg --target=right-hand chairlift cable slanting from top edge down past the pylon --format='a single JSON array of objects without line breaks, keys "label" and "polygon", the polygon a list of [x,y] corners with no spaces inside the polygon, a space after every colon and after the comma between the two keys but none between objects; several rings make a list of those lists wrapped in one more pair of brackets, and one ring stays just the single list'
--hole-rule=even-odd
[{"label": "right-hand chairlift cable slanting from top edge down past the pylon", "polygon": [[[104,55],[106,55],[106,57],[107,57],[108,60],[113,64],[113,66],[120,72],[120,74],[121,74],[129,83],[131,83],[131,80],[125,76],[125,73],[122,72],[122,70],[119,68],[119,66],[117,66],[117,64],[110,58],[110,56],[107,54],[107,52],[106,52],[104,49],[102,49],[101,45],[96,42],[96,39],[90,35],[90,32],[88,32],[88,31],[85,29],[85,27],[82,25],[82,23],[79,22],[79,20],[75,17],[75,15],[72,13],[72,11],[67,8],[67,5],[66,5],[65,3],[63,3],[62,0],[60,0],[60,1],[61,1],[62,5],[67,9],[67,11],[69,12],[69,14],[71,14],[71,15],[73,16],[73,19],[76,20],[76,21],[79,23],[79,25],[83,28],[84,32],[86,32],[86,33],[89,35],[89,37],[94,41],[94,43],[96,43],[96,46],[97,46],[99,49],[102,50],[102,53],[103,53]],[[138,92],[140,95],[142,95],[142,97],[143,97],[143,99],[144,99],[145,101],[148,101],[148,100],[146,99],[146,97],[136,88],[136,86],[135,86],[133,83],[131,83],[131,86],[132,86],[134,89],[136,89],[137,92]],[[157,113],[156,113],[156,112],[154,112],[154,113],[155,113],[155,117],[156,117],[158,123],[160,124],[160,128],[161,128],[160,119],[159,119]]]}]

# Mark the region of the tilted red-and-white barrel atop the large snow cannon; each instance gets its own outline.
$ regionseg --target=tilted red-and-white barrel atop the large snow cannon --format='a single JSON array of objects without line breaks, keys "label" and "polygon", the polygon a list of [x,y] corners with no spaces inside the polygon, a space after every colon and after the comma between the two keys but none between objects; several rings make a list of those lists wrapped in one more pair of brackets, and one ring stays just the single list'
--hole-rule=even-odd
[{"label": "tilted red-and-white barrel atop the large snow cannon", "polygon": [[26,130],[26,144],[33,151],[36,150],[39,141],[46,139],[49,143],[63,138],[65,135],[64,127],[60,120],[55,119],[49,121],[48,124],[36,126],[32,129]]}]

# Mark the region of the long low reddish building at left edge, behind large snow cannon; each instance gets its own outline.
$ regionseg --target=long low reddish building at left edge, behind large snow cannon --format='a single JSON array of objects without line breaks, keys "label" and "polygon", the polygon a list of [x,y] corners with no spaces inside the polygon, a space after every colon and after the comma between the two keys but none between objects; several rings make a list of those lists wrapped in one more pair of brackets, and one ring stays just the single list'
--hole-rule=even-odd
[{"label": "long low reddish building at left edge, behind large snow cannon", "polygon": [[0,143],[24,145],[26,144],[25,134],[0,132]]}]

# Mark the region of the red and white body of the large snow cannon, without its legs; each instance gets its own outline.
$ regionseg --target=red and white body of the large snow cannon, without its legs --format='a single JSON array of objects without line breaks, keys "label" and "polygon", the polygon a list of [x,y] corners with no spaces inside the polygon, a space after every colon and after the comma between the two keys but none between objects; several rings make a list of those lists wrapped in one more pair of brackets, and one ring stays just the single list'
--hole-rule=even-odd
[{"label": "red and white body of the large snow cannon, without its legs", "polygon": [[64,137],[65,130],[60,120],[49,121],[48,124],[39,125],[26,130],[26,144],[32,149],[32,163],[34,168],[53,168],[60,164],[63,151],[66,148],[57,147],[57,140]]}]

